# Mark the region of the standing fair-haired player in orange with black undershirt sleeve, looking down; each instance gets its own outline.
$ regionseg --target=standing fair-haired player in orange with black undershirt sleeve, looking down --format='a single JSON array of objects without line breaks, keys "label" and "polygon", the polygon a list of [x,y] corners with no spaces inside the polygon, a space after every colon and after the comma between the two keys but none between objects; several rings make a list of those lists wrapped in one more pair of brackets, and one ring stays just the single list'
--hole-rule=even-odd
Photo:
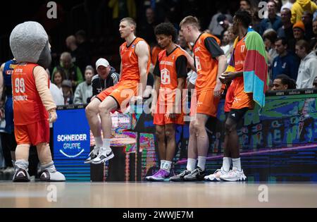
[{"label": "standing fair-haired player in orange with black undershirt sleeve, looking down", "polygon": [[199,28],[199,21],[193,16],[187,16],[180,23],[180,30],[186,41],[194,42],[197,80],[196,94],[192,96],[191,102],[190,112],[194,120],[189,125],[187,169],[170,178],[172,181],[204,180],[209,149],[205,125],[209,117],[216,118],[218,102],[223,91],[223,85],[218,78],[225,71],[226,58],[220,49],[220,40],[213,35],[201,33]]}]

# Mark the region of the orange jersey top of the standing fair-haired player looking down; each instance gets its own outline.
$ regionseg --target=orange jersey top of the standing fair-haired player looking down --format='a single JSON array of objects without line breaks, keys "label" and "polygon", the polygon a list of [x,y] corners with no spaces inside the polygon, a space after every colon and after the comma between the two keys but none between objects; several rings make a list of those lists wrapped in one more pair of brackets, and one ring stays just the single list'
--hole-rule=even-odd
[{"label": "orange jersey top of the standing fair-haired player looking down", "polygon": [[194,61],[197,69],[197,80],[195,89],[197,92],[213,90],[216,87],[218,75],[218,61],[213,59],[212,55],[206,49],[205,39],[212,37],[220,44],[220,40],[208,33],[202,33],[194,44]]}]

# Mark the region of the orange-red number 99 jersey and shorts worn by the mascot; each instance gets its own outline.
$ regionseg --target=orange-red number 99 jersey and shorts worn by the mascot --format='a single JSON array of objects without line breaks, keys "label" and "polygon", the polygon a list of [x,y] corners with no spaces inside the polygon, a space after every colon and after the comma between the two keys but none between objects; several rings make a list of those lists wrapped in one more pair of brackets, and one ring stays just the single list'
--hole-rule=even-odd
[{"label": "orange-red number 99 jersey and shorts worn by the mascot", "polygon": [[49,113],[35,85],[33,70],[36,66],[35,63],[20,63],[13,70],[13,115],[17,144],[49,142]]}]

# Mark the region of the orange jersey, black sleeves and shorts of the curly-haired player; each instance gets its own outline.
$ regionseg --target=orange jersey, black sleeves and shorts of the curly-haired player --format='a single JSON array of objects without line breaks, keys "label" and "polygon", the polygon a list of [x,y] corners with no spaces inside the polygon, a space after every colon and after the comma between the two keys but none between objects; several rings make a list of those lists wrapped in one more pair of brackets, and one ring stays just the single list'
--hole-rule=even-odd
[{"label": "orange jersey, black sleeves and shorts of the curly-haired player", "polygon": [[[187,58],[184,51],[176,47],[170,54],[167,51],[161,51],[157,61],[159,70],[155,70],[154,74],[161,78],[161,86],[159,90],[159,99],[156,104],[156,113],[154,114],[155,125],[166,124],[184,124],[184,112],[182,104],[178,106],[176,118],[169,118],[166,111],[175,106],[175,93],[178,92],[178,78],[187,77]],[[157,66],[157,65],[156,65]],[[157,67],[156,67],[157,68]]]}]

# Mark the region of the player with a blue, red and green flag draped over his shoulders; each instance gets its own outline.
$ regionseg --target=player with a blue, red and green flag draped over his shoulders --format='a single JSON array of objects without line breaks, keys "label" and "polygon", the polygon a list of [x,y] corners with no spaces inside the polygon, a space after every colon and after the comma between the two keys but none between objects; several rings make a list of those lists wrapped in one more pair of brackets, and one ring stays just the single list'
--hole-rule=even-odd
[{"label": "player with a blue, red and green flag draped over his shoulders", "polygon": [[[247,178],[241,167],[237,123],[242,120],[249,109],[254,109],[254,101],[261,108],[264,106],[268,80],[268,65],[263,39],[257,32],[249,29],[250,23],[249,12],[240,10],[235,13],[232,30],[238,37],[235,40],[227,72],[223,73],[220,78],[224,83],[231,82],[225,97],[223,166],[215,173],[206,176],[206,180],[242,181]],[[230,171],[231,162],[232,170]]]}]

